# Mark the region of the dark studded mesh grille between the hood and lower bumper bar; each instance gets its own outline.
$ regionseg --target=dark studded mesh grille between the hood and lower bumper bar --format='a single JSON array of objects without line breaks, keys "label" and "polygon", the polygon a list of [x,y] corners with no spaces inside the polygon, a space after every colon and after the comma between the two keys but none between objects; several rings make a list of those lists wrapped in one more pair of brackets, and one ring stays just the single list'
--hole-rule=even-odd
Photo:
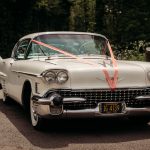
[{"label": "dark studded mesh grille between the hood and lower bumper bar", "polygon": [[150,95],[150,88],[134,88],[134,89],[116,89],[111,90],[58,90],[62,97],[81,97],[87,99],[85,102],[64,104],[64,109],[90,109],[96,108],[99,102],[122,102],[124,101],[128,107],[144,107],[150,106],[149,101],[138,101],[137,96]]}]

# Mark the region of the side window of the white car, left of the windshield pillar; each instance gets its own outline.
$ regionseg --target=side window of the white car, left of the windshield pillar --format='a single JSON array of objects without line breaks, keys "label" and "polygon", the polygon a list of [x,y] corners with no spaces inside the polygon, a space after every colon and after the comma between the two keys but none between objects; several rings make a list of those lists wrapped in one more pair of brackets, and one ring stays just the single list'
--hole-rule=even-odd
[{"label": "side window of the white car, left of the windshield pillar", "polygon": [[29,42],[30,42],[30,39],[26,39],[26,40],[21,41],[18,44],[18,47],[16,48],[16,50],[14,52],[15,59],[24,59],[25,58],[25,53],[27,51]]}]

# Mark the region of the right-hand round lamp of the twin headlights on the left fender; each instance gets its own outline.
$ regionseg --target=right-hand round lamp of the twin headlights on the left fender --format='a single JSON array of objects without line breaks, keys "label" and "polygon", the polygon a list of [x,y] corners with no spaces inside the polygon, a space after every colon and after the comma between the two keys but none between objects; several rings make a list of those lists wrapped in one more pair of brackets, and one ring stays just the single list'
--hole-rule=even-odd
[{"label": "right-hand round lamp of the twin headlights on the left fender", "polygon": [[65,83],[68,80],[68,74],[65,71],[60,71],[57,74],[57,82],[60,84]]}]

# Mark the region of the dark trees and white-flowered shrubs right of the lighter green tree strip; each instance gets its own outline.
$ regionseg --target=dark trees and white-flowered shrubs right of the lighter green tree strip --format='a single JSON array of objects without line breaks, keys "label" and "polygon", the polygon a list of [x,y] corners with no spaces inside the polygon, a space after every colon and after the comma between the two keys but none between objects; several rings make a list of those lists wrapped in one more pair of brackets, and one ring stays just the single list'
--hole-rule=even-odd
[{"label": "dark trees and white-flowered shrubs right of the lighter green tree strip", "polygon": [[110,39],[121,59],[144,60],[139,43],[145,48],[150,40],[149,4],[148,0],[97,0],[101,9],[96,13],[103,15],[98,32]]}]

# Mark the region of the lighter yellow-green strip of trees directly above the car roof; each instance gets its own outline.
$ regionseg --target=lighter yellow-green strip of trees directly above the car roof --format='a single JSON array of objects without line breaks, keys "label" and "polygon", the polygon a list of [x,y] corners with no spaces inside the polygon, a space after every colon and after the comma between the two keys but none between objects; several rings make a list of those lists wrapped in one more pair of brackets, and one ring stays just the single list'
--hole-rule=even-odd
[{"label": "lighter yellow-green strip of trees directly above the car roof", "polygon": [[72,2],[70,30],[94,32],[95,0],[76,0]]}]

